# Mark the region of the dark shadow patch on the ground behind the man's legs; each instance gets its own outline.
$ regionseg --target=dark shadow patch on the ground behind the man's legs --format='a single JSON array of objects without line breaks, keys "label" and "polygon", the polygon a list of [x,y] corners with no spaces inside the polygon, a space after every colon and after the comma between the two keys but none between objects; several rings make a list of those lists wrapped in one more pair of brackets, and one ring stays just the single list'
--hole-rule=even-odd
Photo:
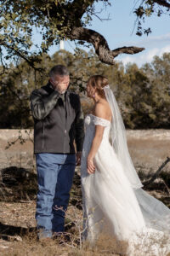
[{"label": "dark shadow patch on the ground behind the man's legs", "polygon": [[[25,168],[10,166],[0,171],[0,201],[32,201],[37,197],[37,174]],[[75,172],[71,205],[82,209],[80,175]]]}]

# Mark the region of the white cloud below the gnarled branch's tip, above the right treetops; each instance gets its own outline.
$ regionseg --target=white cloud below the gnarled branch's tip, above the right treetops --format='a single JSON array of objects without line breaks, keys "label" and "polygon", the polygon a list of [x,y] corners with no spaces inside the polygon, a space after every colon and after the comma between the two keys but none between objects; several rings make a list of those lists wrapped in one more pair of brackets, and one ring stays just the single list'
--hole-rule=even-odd
[{"label": "white cloud below the gnarled branch's tip, above the right treetops", "polygon": [[136,63],[139,67],[141,67],[144,63],[153,61],[153,57],[155,55],[158,55],[161,57],[161,55],[165,52],[170,52],[170,44],[167,44],[162,48],[149,49],[148,51],[141,52],[136,55],[127,55],[125,57],[117,57],[116,60],[122,61],[124,65],[126,65],[128,62],[133,62],[133,63]]}]

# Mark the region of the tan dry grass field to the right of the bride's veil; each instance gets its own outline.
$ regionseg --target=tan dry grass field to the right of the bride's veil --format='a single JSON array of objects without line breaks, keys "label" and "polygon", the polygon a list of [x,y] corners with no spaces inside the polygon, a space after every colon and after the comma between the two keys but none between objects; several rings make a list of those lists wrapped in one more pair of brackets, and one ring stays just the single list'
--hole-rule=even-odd
[{"label": "tan dry grass field to the right of the bride's veil", "polygon": [[[144,172],[154,172],[170,157],[169,130],[127,131],[127,143],[134,166],[143,166]],[[165,169],[170,172],[170,164]]]}]

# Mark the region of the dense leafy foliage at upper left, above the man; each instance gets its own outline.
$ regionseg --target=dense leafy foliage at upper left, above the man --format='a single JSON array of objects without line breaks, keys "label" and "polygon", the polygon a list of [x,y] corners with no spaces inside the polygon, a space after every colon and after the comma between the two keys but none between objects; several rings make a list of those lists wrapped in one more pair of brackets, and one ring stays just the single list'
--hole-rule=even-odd
[{"label": "dense leafy foliage at upper left, above the man", "polygon": [[[108,0],[100,0],[108,4]],[[24,55],[29,61],[34,28],[42,36],[37,54],[47,52],[62,38],[69,38],[74,26],[86,26],[94,14],[94,0],[0,0],[0,32],[5,58]],[[99,1],[97,1],[99,2]],[[84,14],[86,15],[86,18]],[[82,18],[82,15],[83,18]],[[12,50],[13,49],[13,50]],[[35,52],[34,52],[35,54]]]}]

